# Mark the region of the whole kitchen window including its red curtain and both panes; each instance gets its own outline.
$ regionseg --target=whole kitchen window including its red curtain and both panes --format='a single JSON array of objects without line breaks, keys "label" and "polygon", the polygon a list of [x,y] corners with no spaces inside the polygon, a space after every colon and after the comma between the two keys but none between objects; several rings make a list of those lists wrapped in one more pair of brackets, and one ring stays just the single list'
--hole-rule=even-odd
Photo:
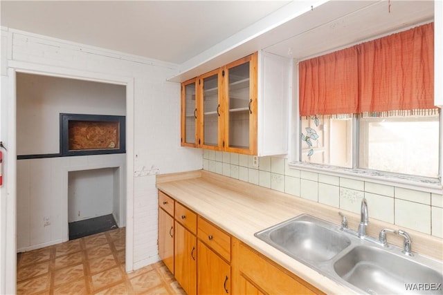
[{"label": "whole kitchen window including its red curtain and both panes", "polygon": [[300,161],[439,176],[433,23],[299,64]]}]

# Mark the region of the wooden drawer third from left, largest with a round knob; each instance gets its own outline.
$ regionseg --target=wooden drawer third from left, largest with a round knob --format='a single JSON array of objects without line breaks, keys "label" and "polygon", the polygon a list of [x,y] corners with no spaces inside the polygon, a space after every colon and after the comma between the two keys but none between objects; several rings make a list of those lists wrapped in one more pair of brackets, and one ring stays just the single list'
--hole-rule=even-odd
[{"label": "wooden drawer third from left, largest with a round knob", "polygon": [[200,216],[198,225],[199,239],[230,262],[230,236]]}]

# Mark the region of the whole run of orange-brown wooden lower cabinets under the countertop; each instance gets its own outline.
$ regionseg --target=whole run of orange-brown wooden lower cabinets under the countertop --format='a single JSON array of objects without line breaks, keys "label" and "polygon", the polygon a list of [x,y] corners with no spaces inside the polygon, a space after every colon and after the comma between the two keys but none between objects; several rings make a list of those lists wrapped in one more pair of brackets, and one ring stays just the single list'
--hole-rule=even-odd
[{"label": "whole run of orange-brown wooden lower cabinets under the countertop", "polygon": [[[159,191],[159,198],[169,196]],[[171,198],[170,200],[173,201]],[[168,199],[168,202],[170,202]],[[163,202],[159,206],[162,207]],[[192,294],[324,294],[241,240],[174,201],[175,278]],[[159,254],[170,249],[170,214],[159,209]],[[162,214],[169,216],[161,217]],[[197,232],[195,230],[197,229]],[[160,255],[170,265],[170,255]]]}]

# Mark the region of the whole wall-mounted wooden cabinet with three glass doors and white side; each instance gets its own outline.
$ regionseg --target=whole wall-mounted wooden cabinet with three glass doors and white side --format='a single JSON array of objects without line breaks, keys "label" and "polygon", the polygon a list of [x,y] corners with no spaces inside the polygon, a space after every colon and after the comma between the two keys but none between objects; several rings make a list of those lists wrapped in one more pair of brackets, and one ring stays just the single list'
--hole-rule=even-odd
[{"label": "whole wall-mounted wooden cabinet with three glass doors and white side", "polygon": [[[291,62],[254,53],[183,82],[182,145],[248,155],[286,154]],[[195,100],[186,100],[192,91]],[[195,114],[196,125],[183,118],[183,110]],[[192,131],[195,142],[190,144]]]}]

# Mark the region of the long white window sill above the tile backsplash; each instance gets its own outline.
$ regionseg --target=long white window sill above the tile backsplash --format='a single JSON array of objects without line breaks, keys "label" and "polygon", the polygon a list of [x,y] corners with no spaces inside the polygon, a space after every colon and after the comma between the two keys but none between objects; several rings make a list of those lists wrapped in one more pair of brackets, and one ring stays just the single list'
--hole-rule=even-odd
[{"label": "long white window sill above the tile backsplash", "polygon": [[437,193],[439,195],[442,194],[443,189],[442,182],[437,178],[426,178],[415,175],[404,175],[369,169],[350,169],[307,162],[290,162],[289,167],[291,169],[301,169],[304,171],[351,178],[354,180],[385,184],[393,187],[402,187],[405,189]]}]

